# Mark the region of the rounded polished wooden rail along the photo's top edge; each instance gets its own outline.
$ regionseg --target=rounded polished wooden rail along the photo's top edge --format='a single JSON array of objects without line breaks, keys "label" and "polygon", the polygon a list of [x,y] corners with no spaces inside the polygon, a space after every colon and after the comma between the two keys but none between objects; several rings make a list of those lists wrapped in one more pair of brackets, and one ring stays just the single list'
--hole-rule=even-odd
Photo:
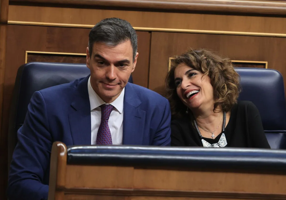
[{"label": "rounded polished wooden rail along the photo's top edge", "polygon": [[59,3],[68,5],[93,5],[140,9],[168,9],[183,11],[215,11],[286,15],[283,1],[260,0],[10,0],[11,2]]}]

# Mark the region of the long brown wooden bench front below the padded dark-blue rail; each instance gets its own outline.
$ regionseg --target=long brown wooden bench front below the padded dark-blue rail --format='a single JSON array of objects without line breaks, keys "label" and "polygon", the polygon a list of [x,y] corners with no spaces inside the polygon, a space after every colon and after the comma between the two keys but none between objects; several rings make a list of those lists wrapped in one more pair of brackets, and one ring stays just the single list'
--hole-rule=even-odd
[{"label": "long brown wooden bench front below the padded dark-blue rail", "polygon": [[[68,193],[72,193],[73,189],[78,190],[78,192],[85,189],[102,189],[102,191],[96,192],[106,195],[112,193],[109,189],[123,189],[122,191],[114,191],[117,191],[117,195],[131,195],[134,191],[138,195],[143,195],[142,191],[148,190],[286,195],[284,187],[286,175],[271,172],[237,172],[232,169],[229,169],[229,171],[213,169],[198,171],[169,169],[168,167],[140,169],[132,166],[67,165],[66,173],[65,188]],[[212,179],[212,181],[209,181],[209,179]],[[166,194],[166,196],[168,195]]]}]

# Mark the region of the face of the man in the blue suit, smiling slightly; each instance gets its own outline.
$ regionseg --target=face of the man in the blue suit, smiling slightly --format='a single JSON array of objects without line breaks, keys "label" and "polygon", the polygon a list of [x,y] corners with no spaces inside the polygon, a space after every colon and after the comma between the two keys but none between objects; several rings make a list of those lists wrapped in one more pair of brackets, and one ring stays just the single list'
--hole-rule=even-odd
[{"label": "face of the man in the blue suit, smiling slightly", "polygon": [[86,48],[86,65],[90,69],[90,83],[94,91],[106,103],[114,101],[128,83],[134,71],[138,53],[133,62],[130,40],[116,46],[94,43],[92,55]]}]

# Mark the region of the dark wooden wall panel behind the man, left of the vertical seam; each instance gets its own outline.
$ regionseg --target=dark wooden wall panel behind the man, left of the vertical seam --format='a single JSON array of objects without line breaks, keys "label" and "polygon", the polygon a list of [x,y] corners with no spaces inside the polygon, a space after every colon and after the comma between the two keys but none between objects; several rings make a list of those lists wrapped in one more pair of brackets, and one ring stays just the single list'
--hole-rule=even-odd
[{"label": "dark wooden wall panel behind the man, left of the vertical seam", "polygon": [[[10,102],[17,70],[22,64],[25,63],[25,51],[86,53],[88,34],[90,31],[90,29],[87,28],[44,27],[29,25],[8,25],[7,28],[7,62],[5,68],[5,81],[3,81],[3,129],[1,132],[4,142],[1,143],[1,152],[7,152]],[[148,87],[151,33],[148,31],[137,31],[137,34],[139,57],[136,69],[132,73],[132,76],[134,83]],[[71,59],[71,57],[67,59],[67,57],[57,57],[56,55],[28,54],[27,58],[28,61],[82,62],[82,60],[74,60]],[[3,168],[0,170],[0,177],[4,177],[3,182],[6,185],[8,165],[7,154],[0,153],[0,155],[3,155],[0,160],[1,166],[3,165]],[[3,193],[1,189],[3,189]],[[5,187],[0,188],[0,193],[5,195]]]}]

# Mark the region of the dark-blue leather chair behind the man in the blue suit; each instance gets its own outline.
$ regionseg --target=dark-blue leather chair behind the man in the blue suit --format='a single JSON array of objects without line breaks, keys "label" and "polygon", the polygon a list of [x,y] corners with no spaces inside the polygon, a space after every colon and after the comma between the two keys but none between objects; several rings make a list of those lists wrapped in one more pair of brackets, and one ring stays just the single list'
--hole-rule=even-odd
[{"label": "dark-blue leather chair behind the man in the blue suit", "polygon": [[[28,104],[35,91],[86,77],[85,64],[32,62],[19,67],[11,104],[8,135],[8,163],[17,144],[17,131],[23,125]],[[129,82],[133,83],[132,76]]]}]

